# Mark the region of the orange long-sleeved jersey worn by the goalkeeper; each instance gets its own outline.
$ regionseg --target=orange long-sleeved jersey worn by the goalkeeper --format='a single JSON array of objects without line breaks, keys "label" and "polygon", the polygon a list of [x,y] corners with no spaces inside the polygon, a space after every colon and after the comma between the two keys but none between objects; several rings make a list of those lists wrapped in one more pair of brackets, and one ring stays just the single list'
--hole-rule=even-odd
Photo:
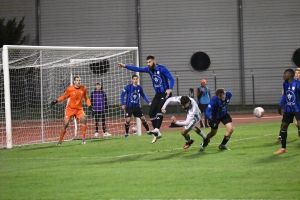
[{"label": "orange long-sleeved jersey worn by the goalkeeper", "polygon": [[74,85],[71,85],[66,89],[66,92],[57,99],[57,101],[62,102],[63,100],[68,99],[67,108],[80,110],[83,109],[82,98],[84,98],[88,106],[91,106],[91,101],[86,93],[86,87],[82,85],[80,88],[75,88]]}]

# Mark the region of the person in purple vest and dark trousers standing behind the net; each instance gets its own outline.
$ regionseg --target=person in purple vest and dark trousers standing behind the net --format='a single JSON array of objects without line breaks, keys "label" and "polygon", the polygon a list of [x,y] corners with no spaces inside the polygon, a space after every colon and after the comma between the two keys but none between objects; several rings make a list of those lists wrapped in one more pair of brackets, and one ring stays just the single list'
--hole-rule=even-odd
[{"label": "person in purple vest and dark trousers standing behind the net", "polygon": [[102,87],[100,83],[96,83],[95,91],[91,93],[91,103],[94,109],[94,117],[96,121],[96,132],[95,137],[98,137],[98,126],[99,121],[101,119],[102,121],[102,130],[103,130],[103,136],[111,136],[110,133],[106,131],[106,124],[105,124],[105,113],[108,112],[108,106],[107,106],[107,97],[105,92],[102,90]]}]

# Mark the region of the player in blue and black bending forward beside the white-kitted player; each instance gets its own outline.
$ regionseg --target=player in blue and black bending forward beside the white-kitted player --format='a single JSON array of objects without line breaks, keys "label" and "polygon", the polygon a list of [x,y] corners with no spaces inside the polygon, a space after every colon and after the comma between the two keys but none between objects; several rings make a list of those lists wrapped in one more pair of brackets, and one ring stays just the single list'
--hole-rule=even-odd
[{"label": "player in blue and black bending forward beside the white-kitted player", "polygon": [[228,114],[228,104],[232,94],[230,91],[225,91],[223,88],[219,88],[216,91],[216,95],[210,100],[208,107],[205,111],[205,115],[210,125],[210,133],[207,134],[206,139],[201,144],[201,151],[204,151],[210,139],[217,134],[218,126],[220,122],[226,127],[226,133],[224,135],[222,143],[219,145],[220,150],[230,150],[226,144],[229,141],[233,133],[232,118]]}]

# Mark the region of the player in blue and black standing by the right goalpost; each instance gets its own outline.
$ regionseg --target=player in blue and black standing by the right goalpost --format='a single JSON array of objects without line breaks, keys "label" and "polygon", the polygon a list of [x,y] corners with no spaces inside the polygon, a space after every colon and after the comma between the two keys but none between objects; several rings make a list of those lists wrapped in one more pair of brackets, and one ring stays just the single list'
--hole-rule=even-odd
[{"label": "player in blue and black standing by the right goalpost", "polygon": [[[141,109],[140,96],[142,96],[149,105],[151,105],[151,102],[149,101],[148,97],[145,95],[143,88],[140,85],[138,85],[138,80],[139,77],[137,75],[132,75],[132,84],[127,85],[121,94],[122,109],[126,111],[125,137],[129,136],[128,132],[130,127],[130,119],[132,115],[134,117],[139,117],[142,120],[142,124],[145,127],[147,134],[151,134],[148,123]],[[126,104],[124,101],[125,95],[126,95]]]}]

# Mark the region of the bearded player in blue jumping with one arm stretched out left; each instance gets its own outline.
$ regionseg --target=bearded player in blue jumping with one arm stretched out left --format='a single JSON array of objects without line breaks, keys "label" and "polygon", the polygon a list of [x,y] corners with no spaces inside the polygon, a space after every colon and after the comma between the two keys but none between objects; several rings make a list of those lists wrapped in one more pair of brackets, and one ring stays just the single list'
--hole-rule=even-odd
[{"label": "bearded player in blue jumping with one arm stretched out left", "polygon": [[156,140],[162,137],[159,131],[163,121],[161,108],[166,99],[172,96],[174,78],[167,67],[156,63],[154,56],[147,56],[146,60],[148,67],[139,68],[136,66],[125,65],[124,63],[118,63],[118,65],[119,67],[123,67],[131,71],[144,72],[150,75],[153,88],[155,90],[155,96],[152,100],[149,116],[154,128],[151,133],[155,136],[154,140]]}]

